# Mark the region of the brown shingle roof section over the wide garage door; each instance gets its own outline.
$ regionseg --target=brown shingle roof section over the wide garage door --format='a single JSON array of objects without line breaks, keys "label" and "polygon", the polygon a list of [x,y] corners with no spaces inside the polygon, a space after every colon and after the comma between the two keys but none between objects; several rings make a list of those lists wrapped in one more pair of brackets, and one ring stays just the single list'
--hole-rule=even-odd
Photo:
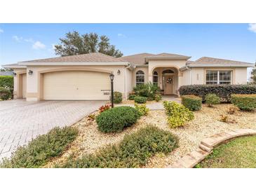
[{"label": "brown shingle roof section over the wide garage door", "polygon": [[126,62],[121,58],[112,57],[102,53],[87,53],[82,55],[71,55],[64,57],[53,57],[41,60],[30,60],[25,62]]}]

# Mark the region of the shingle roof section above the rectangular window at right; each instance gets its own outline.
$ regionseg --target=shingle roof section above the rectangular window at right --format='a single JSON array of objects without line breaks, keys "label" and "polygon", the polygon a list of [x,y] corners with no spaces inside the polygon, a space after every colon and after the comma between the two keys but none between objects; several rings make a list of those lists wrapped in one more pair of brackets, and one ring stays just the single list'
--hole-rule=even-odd
[{"label": "shingle roof section above the rectangular window at right", "polygon": [[223,60],[213,57],[201,57],[200,59],[189,64],[252,64],[249,62],[239,62],[234,60]]}]

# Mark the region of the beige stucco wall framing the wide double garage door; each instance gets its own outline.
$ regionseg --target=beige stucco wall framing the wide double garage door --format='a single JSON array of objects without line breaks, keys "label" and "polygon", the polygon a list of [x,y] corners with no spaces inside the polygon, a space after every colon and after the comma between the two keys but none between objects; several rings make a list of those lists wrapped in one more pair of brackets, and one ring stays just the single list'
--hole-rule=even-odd
[{"label": "beige stucco wall framing the wide double garage door", "polygon": [[[27,75],[27,101],[37,101],[42,99],[41,88],[43,86],[43,74],[41,71],[55,70],[93,70],[114,73],[114,91],[125,92],[125,67],[124,66],[27,66],[27,71],[32,70],[32,75]],[[120,70],[120,74],[117,71]],[[90,81],[90,79],[88,79]],[[110,80],[109,80],[110,83]]]}]

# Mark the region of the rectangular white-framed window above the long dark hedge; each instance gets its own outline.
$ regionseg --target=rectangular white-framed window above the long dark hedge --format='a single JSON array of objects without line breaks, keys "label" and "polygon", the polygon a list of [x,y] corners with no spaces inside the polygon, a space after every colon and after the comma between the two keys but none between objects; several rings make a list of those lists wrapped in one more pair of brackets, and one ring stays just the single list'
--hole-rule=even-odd
[{"label": "rectangular white-framed window above the long dark hedge", "polygon": [[232,71],[228,70],[207,70],[206,71],[206,84],[231,84],[232,81]]}]

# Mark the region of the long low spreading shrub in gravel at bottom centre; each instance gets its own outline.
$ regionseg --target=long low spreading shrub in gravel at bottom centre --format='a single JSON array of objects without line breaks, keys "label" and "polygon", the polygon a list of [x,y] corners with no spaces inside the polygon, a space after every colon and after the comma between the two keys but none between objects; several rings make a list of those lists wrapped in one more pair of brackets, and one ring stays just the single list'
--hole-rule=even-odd
[{"label": "long low spreading shrub in gravel at bottom centre", "polygon": [[[178,139],[170,132],[154,125],[125,135],[119,144],[100,149],[95,154],[74,159],[72,156],[62,167],[69,168],[132,168],[142,167],[156,153],[170,153],[177,148]],[[56,165],[55,167],[60,167]]]}]

